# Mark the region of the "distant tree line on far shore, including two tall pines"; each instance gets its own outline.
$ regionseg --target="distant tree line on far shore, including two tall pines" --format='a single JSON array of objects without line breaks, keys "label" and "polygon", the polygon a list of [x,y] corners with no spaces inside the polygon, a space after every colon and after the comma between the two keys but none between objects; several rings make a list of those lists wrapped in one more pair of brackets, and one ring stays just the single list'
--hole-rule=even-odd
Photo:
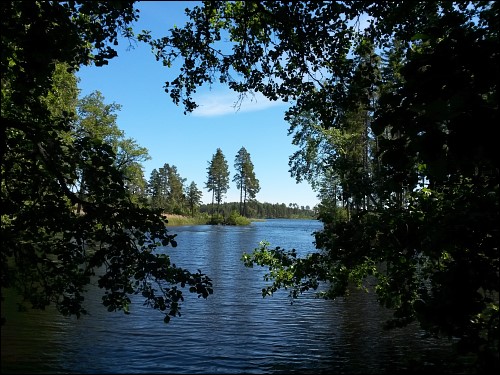
[{"label": "distant tree line on far shore, including two tall pines", "polygon": [[210,217],[215,215],[226,218],[236,211],[239,215],[250,218],[314,217],[315,212],[309,206],[258,202],[256,195],[260,190],[259,180],[255,176],[250,153],[245,147],[241,147],[236,154],[234,168],[232,181],[239,189],[239,202],[224,202],[229,189],[230,172],[226,157],[220,148],[212,155],[207,167],[204,187],[212,193],[210,204],[203,204],[202,191],[194,181],[186,184],[187,179],[181,177],[177,167],[168,163],[159,169],[153,169],[142,199],[154,209],[176,215],[195,216],[201,213]]}]

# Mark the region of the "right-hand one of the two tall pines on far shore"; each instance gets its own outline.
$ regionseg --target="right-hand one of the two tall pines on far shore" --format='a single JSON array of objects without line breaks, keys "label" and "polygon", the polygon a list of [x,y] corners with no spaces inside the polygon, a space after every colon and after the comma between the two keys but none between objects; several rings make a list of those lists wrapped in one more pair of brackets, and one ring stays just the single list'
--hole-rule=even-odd
[{"label": "right-hand one of the two tall pines on far shore", "polygon": [[236,154],[234,168],[236,174],[233,177],[233,182],[240,189],[240,215],[247,216],[246,202],[248,199],[255,199],[260,186],[259,180],[255,178],[250,154],[245,147],[241,147]]}]

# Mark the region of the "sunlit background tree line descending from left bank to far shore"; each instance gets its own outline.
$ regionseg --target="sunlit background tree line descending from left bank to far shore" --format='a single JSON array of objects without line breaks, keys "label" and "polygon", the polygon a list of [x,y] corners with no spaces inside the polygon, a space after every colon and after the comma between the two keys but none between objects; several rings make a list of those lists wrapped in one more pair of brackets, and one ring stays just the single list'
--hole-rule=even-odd
[{"label": "sunlit background tree line descending from left bank to far shore", "polygon": [[[264,206],[256,201],[256,194],[260,191],[259,180],[255,176],[250,153],[245,147],[239,149],[234,159],[235,175],[232,181],[240,191],[240,201],[237,207],[231,204],[231,210],[228,210],[229,205],[223,202],[229,189],[230,172],[226,157],[220,148],[212,155],[207,167],[204,187],[212,192],[210,205],[202,203],[202,191],[194,181],[186,185],[187,179],[181,177],[175,165],[165,163],[163,167],[153,169],[149,181],[146,181],[143,162],[151,157],[145,147],[126,137],[119,128],[117,118],[121,105],[115,102],[106,103],[98,90],[79,98],[78,78],[74,73],[68,72],[68,66],[65,64],[56,65],[53,89],[44,100],[55,116],[64,111],[74,112],[74,130],[67,134],[68,137],[87,135],[111,148],[115,155],[113,164],[123,176],[124,187],[129,191],[131,199],[142,206],[149,206],[162,213],[190,216],[207,213],[229,217],[234,210],[245,217],[297,216],[298,207],[295,207],[295,204],[290,203],[290,207],[293,205],[292,209],[282,210],[280,207],[270,210],[263,209]],[[90,194],[87,181],[92,176],[83,170],[77,173],[78,179],[72,189],[83,199]],[[249,202],[252,202],[251,209],[248,208]],[[82,204],[78,203],[76,211],[83,213],[82,210]],[[301,211],[304,210],[301,208]],[[305,214],[311,216],[311,213]]]}]

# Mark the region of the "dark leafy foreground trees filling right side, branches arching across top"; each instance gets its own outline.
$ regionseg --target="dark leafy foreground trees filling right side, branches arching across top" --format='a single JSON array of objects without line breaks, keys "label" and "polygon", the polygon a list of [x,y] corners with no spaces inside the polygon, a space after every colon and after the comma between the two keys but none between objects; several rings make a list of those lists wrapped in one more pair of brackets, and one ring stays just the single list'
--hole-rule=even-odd
[{"label": "dark leafy foreground trees filling right side, branches arching across top", "polygon": [[165,66],[182,56],[166,91],[186,112],[198,86],[215,82],[291,101],[285,119],[309,147],[293,172],[317,176],[325,226],[306,258],[266,246],[244,255],[270,267],[263,294],[285,287],[295,298],[325,282],[335,298],[373,277],[394,311],[389,326],[417,320],[460,338],[480,371],[498,370],[499,9],[205,2],[169,36],[141,36]]}]

